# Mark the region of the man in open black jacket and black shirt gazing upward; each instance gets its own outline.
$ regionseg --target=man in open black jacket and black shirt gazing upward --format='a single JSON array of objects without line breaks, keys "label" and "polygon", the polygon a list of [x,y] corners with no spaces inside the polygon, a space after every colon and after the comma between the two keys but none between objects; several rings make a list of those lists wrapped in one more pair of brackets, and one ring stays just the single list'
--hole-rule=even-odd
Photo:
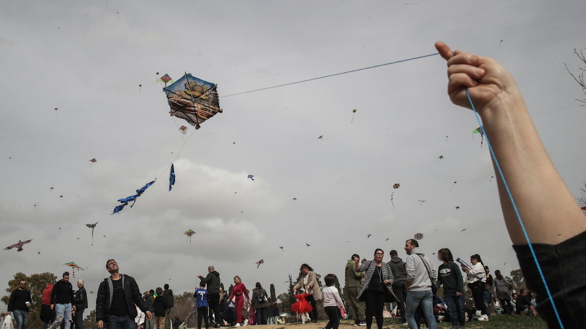
[{"label": "man in open black jacket and black shirt gazing upward", "polygon": [[151,311],[142,299],[134,277],[120,274],[114,259],[106,262],[106,269],[110,277],[100,283],[96,297],[98,329],[103,329],[104,323],[108,324],[108,329],[136,329],[134,318],[138,313],[135,304],[145,313],[147,320],[151,320]]}]

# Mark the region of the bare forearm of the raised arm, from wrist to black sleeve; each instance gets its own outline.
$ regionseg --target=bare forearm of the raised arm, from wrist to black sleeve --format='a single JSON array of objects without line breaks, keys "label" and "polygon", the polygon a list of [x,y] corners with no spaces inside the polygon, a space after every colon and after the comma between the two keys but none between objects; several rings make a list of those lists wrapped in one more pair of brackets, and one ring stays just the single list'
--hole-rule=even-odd
[{"label": "bare forearm of the raised arm, from wrist to black sleeve", "polygon": [[[557,244],[584,231],[584,215],[547,155],[519,91],[490,102],[481,114],[530,240]],[[500,174],[495,176],[510,238],[526,244]],[[560,218],[564,225],[558,225]]]}]

